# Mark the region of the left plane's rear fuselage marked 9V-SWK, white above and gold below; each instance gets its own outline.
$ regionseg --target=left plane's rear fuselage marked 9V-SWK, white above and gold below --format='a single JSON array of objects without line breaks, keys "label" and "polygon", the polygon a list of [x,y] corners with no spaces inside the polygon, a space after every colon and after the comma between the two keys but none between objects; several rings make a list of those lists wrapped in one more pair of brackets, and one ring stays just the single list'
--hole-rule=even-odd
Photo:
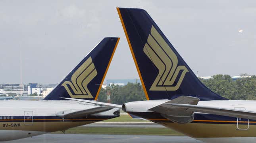
[{"label": "left plane's rear fuselage marked 9V-SWK, white above and gold below", "polygon": [[98,107],[69,100],[0,101],[0,105],[0,141],[64,131],[119,116],[114,115],[114,112],[119,110],[116,108],[84,117],[66,119],[57,116],[63,111],[81,111]]}]

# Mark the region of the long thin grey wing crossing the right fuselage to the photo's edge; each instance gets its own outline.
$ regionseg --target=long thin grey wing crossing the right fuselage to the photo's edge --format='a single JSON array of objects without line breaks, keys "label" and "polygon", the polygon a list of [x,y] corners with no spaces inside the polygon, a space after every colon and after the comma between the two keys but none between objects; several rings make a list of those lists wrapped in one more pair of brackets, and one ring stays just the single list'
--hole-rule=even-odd
[{"label": "long thin grey wing crossing the right fuselage to the photo's edge", "polygon": [[180,107],[185,109],[186,111],[194,111],[194,112],[256,120],[256,112],[254,111],[244,111],[244,110],[235,110],[235,109],[228,109],[228,108],[179,104],[179,103],[166,103],[166,105],[169,105],[170,107],[173,107],[173,106]]}]

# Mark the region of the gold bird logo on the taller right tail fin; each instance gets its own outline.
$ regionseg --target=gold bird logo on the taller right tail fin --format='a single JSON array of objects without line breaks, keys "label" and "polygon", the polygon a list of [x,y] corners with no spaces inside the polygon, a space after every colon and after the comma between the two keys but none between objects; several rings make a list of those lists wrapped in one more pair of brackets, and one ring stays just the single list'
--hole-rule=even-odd
[{"label": "gold bird logo on the taller right tail fin", "polygon": [[[158,76],[156,77],[150,90],[178,90],[185,77],[185,74],[189,71],[185,66],[177,66],[177,56],[158,33],[156,28],[154,28],[154,26],[152,26],[150,30],[150,34],[148,35],[148,39],[143,51],[159,70]],[[179,76],[177,84],[173,85],[181,70],[183,71]]]}]

